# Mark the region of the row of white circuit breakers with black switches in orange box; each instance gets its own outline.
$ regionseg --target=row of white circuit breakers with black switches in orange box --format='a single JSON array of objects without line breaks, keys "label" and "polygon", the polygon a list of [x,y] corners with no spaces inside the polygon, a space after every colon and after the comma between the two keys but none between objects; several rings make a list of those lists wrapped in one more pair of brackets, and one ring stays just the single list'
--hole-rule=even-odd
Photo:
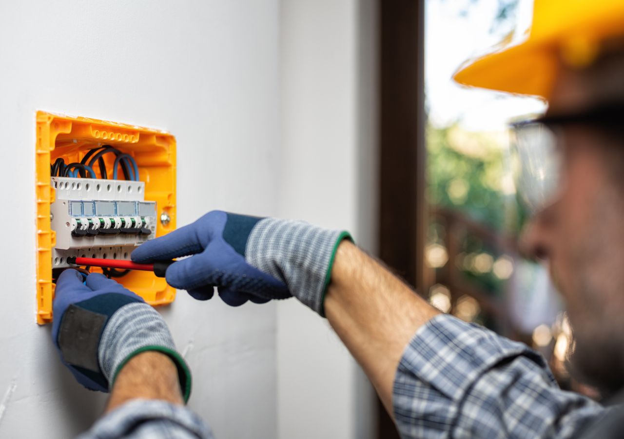
[{"label": "row of white circuit breakers with black switches in orange box", "polygon": [[70,267],[68,256],[129,260],[156,233],[156,203],[144,200],[144,182],[52,177],[52,187],[52,268]]}]

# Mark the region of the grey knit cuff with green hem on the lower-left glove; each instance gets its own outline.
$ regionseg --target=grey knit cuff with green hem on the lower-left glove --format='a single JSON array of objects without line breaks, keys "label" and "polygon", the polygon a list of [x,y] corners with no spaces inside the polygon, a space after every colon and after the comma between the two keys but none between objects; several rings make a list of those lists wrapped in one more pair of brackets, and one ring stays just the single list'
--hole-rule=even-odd
[{"label": "grey knit cuff with green hem on the lower-left glove", "polygon": [[157,351],[175,363],[184,401],[191,391],[191,374],[187,363],[175,349],[173,338],[162,316],[144,302],[130,303],[110,317],[98,348],[100,370],[110,383],[132,357],[141,352]]}]

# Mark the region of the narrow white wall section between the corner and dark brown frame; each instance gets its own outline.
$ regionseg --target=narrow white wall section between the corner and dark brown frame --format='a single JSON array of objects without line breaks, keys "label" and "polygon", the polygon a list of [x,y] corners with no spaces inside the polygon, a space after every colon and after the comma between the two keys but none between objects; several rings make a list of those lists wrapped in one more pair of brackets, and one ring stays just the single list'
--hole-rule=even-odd
[{"label": "narrow white wall section between the corner and dark brown frame", "polygon": [[[280,215],[375,250],[376,1],[281,2]],[[321,319],[278,305],[279,437],[372,438],[372,390]]]}]

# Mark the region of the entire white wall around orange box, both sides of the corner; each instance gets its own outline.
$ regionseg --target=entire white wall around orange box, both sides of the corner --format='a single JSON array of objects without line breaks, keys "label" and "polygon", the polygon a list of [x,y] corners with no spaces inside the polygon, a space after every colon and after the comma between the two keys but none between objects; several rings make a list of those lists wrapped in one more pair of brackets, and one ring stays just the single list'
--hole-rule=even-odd
[{"label": "entire white wall around orange box, both sides of the corner", "polygon": [[[105,402],[34,323],[35,111],[172,132],[178,226],[211,209],[298,217],[374,250],[373,5],[0,2],[0,437],[71,437]],[[295,300],[180,293],[161,311],[193,370],[190,407],[218,438],[372,437],[368,383]]]}]

